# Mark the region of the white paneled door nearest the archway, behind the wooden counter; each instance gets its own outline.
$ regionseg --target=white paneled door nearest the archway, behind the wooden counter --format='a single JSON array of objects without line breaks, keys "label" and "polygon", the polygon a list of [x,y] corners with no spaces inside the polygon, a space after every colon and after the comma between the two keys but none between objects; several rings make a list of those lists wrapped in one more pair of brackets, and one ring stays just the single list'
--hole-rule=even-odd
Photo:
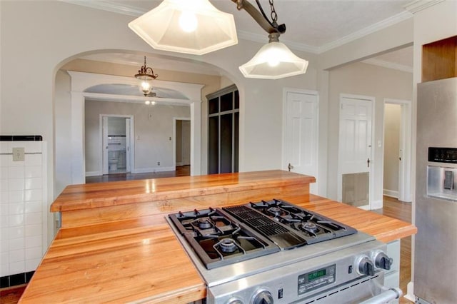
[{"label": "white paneled door nearest the archway, behind the wooden counter", "polygon": [[286,91],[283,120],[283,168],[316,177],[318,183],[318,95],[308,91]]}]

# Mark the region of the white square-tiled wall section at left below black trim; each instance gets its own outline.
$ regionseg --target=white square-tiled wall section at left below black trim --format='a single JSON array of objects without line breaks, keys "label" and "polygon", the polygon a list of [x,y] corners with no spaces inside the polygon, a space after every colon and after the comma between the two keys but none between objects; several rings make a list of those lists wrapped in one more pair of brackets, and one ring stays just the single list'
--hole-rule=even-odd
[{"label": "white square-tiled wall section at left below black trim", "polygon": [[[12,148],[25,160],[13,161]],[[0,141],[0,276],[35,270],[46,250],[46,142]]]}]

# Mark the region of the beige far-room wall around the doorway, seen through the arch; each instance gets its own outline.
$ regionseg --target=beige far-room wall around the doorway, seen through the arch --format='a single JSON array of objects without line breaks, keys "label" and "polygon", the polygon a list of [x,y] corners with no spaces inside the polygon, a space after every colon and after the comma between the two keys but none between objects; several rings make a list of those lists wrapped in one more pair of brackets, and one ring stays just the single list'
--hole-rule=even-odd
[{"label": "beige far-room wall around the doorway, seen through the arch", "polygon": [[[173,118],[190,118],[189,106],[146,106],[86,100],[86,173],[101,169],[100,116],[134,117],[134,167],[132,172],[154,172],[173,167]],[[160,165],[157,163],[160,162]]]}]

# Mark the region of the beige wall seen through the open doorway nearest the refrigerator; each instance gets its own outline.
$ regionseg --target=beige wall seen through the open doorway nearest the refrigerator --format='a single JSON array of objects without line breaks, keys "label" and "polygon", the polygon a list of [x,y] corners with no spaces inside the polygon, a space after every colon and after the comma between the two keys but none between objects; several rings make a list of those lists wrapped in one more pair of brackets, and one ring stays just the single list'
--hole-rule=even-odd
[{"label": "beige wall seen through the open doorway nearest the refrigerator", "polygon": [[384,168],[383,191],[398,196],[398,157],[400,155],[401,106],[384,105]]}]

